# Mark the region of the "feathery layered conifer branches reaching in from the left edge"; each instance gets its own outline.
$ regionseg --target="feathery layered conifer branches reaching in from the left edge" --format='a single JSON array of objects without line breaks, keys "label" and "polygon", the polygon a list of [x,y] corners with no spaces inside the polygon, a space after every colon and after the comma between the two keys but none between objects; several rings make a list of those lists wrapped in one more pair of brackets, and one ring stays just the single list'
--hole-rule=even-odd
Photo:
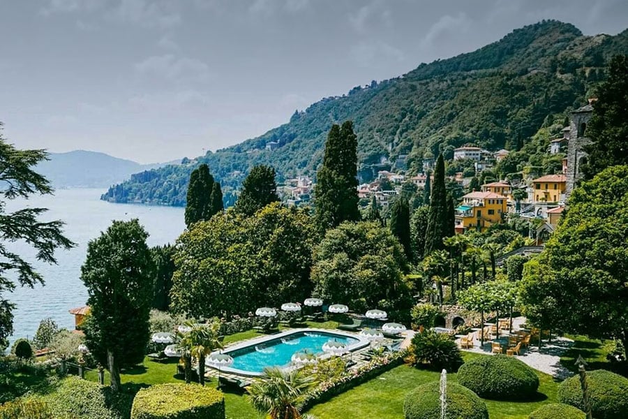
[{"label": "feathery layered conifer branches reaching in from the left edge", "polygon": [[6,200],[28,198],[34,194],[53,192],[45,177],[33,168],[47,159],[43,150],[20,150],[2,138],[0,122],[0,351],[8,346],[13,335],[13,309],[15,304],[2,296],[15,289],[16,283],[33,288],[43,284],[43,277],[33,269],[31,262],[6,248],[6,243],[24,241],[36,250],[36,259],[56,264],[56,249],[70,249],[75,244],[63,236],[61,221],[40,221],[46,208],[22,208],[5,212]]}]

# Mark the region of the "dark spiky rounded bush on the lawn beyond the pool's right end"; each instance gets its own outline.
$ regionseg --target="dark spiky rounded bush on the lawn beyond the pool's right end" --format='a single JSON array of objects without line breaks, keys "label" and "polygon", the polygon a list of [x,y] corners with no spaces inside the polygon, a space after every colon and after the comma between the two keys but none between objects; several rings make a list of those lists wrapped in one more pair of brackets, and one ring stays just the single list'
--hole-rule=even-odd
[{"label": "dark spiky rounded bush on the lawn beyond the pool's right end", "polygon": [[415,365],[428,364],[433,369],[456,371],[463,364],[456,342],[449,335],[431,330],[414,335],[410,352]]}]

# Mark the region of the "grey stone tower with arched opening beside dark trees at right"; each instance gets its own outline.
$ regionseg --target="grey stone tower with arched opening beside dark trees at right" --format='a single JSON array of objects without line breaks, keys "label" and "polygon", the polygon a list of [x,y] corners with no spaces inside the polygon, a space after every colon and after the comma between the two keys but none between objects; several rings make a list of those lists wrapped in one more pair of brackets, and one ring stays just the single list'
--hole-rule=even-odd
[{"label": "grey stone tower with arched opening beside dark trees at right", "polygon": [[587,124],[593,112],[593,107],[589,103],[574,112],[571,112],[571,122],[569,123],[569,142],[567,143],[567,185],[565,190],[565,200],[569,199],[571,191],[574,190],[578,180],[582,177],[581,167],[586,163],[587,154],[584,151],[585,145],[591,142],[586,137]]}]

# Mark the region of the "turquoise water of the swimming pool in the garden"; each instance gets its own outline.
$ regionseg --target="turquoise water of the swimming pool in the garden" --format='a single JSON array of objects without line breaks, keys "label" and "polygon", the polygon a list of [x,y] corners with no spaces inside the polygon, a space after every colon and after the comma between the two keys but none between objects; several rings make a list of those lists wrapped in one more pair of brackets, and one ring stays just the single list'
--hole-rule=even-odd
[{"label": "turquoise water of the swimming pool in the garden", "polygon": [[314,355],[323,353],[322,346],[329,340],[340,341],[347,346],[359,339],[326,332],[297,332],[261,344],[230,351],[233,369],[246,372],[263,372],[265,367],[287,367],[292,355],[307,351]]}]

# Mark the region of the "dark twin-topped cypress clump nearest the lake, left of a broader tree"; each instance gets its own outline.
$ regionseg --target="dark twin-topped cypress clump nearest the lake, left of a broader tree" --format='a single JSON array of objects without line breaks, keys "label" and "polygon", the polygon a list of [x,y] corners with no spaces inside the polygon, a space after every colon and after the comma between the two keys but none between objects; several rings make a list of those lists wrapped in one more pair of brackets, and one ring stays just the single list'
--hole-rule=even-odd
[{"label": "dark twin-topped cypress clump nearest the lake, left of a broader tree", "polygon": [[[207,221],[218,212],[211,200],[214,191],[214,177],[209,172],[209,166],[202,164],[190,173],[188,196],[186,198],[186,226],[193,223]],[[222,199],[222,192],[220,193]],[[222,210],[222,205],[220,205]]]}]

